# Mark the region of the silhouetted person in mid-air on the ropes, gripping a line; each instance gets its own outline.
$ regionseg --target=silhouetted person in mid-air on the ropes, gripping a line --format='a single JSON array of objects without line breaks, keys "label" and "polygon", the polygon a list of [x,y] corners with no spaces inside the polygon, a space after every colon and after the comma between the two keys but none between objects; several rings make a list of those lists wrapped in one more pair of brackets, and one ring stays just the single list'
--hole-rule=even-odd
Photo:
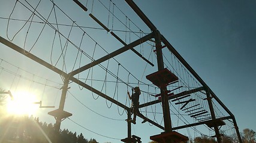
[{"label": "silhouetted person in mid-air on the ropes, gripping a line", "polygon": [[[134,91],[134,92],[133,92]],[[132,101],[132,112],[133,112],[133,119],[132,119],[132,123],[136,124],[136,116],[141,117],[143,120],[143,122],[141,123],[145,123],[146,117],[143,116],[143,114],[140,113],[140,111],[138,111],[138,105],[140,104],[139,99],[140,99],[140,88],[138,88],[138,86],[136,86],[134,89],[132,88],[132,95],[129,94],[129,91],[127,91],[128,97],[129,99]]]}]

